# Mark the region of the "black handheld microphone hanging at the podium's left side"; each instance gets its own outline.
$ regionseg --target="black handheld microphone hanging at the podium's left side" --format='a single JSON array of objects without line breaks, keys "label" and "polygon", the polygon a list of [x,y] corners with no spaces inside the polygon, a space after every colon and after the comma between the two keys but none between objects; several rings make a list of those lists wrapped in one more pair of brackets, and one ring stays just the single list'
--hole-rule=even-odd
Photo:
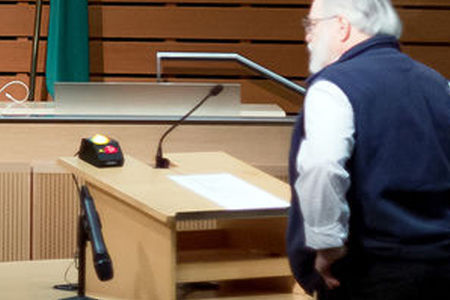
[{"label": "black handheld microphone hanging at the podium's left side", "polygon": [[89,190],[86,186],[81,187],[80,195],[85,213],[85,229],[89,240],[91,241],[95,272],[101,281],[106,281],[113,277],[113,268],[111,258],[109,257],[103,240],[100,218],[95,209],[94,200],[89,194]]}]

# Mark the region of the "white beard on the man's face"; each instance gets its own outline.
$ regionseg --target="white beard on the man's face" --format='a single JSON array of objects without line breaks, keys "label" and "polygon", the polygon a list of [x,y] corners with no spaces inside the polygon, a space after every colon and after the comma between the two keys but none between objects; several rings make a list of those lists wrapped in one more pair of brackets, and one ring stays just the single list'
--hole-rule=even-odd
[{"label": "white beard on the man's face", "polygon": [[332,38],[329,34],[323,34],[314,44],[308,44],[309,72],[311,74],[319,72],[334,60],[332,59],[331,40]]}]

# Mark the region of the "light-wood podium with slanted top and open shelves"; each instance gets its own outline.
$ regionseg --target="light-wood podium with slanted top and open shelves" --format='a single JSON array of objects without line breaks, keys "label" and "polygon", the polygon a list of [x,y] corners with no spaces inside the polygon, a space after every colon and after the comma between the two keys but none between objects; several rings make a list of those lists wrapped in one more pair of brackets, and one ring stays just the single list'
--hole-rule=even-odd
[{"label": "light-wood podium with slanted top and open shelves", "polygon": [[226,209],[168,175],[230,173],[286,202],[289,186],[225,153],[167,157],[170,169],[154,169],[129,156],[123,167],[104,169],[76,157],[59,160],[89,186],[113,261],[114,278],[101,282],[87,249],[87,294],[298,299],[285,255],[286,207]]}]

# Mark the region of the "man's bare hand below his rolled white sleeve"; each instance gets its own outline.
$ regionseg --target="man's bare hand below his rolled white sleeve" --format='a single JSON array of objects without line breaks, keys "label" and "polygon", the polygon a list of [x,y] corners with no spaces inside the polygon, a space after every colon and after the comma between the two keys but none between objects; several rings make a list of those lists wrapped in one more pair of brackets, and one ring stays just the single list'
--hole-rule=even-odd
[{"label": "man's bare hand below his rolled white sleeve", "polygon": [[322,276],[329,289],[337,288],[340,282],[331,274],[331,265],[345,256],[345,247],[317,250],[315,268]]}]

